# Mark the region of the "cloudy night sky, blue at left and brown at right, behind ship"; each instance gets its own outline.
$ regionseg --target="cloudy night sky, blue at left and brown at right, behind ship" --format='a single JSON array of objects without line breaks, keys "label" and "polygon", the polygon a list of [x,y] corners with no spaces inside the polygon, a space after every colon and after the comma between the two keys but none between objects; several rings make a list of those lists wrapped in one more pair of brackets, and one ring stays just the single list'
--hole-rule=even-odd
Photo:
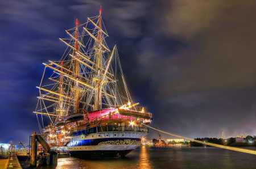
[{"label": "cloudy night sky, blue at left and brown at right, behind ship", "polygon": [[109,48],[117,44],[152,127],[189,138],[256,135],[256,1],[1,0],[0,142],[28,142],[39,131],[42,62],[59,60],[65,30],[100,6]]}]

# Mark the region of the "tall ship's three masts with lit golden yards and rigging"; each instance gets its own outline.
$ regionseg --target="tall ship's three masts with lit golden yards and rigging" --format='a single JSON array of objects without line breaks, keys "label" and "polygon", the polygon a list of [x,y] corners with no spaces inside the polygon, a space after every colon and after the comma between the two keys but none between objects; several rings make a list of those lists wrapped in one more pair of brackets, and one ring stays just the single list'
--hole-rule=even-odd
[{"label": "tall ship's three masts with lit golden yards and rigging", "polygon": [[[113,83],[109,83],[115,81],[113,70],[109,68],[116,47],[111,51],[106,45],[105,37],[108,33],[102,29],[101,7],[100,15],[88,18],[87,23],[92,23],[95,28],[84,27],[84,32],[80,35],[79,22],[76,19],[75,28],[66,30],[70,38],[60,39],[68,46],[61,60],[59,62],[49,61],[49,64],[43,63],[53,70],[49,79],[56,83],[46,86],[40,84],[38,88],[43,92],[40,93],[40,104],[44,104],[43,100],[47,100],[51,102],[51,105],[49,107],[44,105],[45,108],[36,113],[50,116],[54,114],[63,118],[70,113],[79,113],[80,103],[84,107],[85,104],[90,105],[93,111],[96,111],[102,109],[103,100],[106,104],[112,105],[112,100],[116,99],[112,89]],[[89,35],[86,44],[82,43],[85,33]],[[71,49],[68,51],[68,48]],[[108,60],[105,58],[105,52],[110,52]]]}]

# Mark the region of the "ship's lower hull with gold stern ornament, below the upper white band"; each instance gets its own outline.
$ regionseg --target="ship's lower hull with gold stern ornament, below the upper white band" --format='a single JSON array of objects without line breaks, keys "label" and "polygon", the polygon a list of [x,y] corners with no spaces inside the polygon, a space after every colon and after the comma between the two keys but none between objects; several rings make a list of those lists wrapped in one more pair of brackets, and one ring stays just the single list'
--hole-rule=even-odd
[{"label": "ship's lower hull with gold stern ornament, below the upper white band", "polygon": [[57,153],[77,158],[125,157],[141,143],[140,138],[99,138],[71,141],[67,146],[53,147]]}]

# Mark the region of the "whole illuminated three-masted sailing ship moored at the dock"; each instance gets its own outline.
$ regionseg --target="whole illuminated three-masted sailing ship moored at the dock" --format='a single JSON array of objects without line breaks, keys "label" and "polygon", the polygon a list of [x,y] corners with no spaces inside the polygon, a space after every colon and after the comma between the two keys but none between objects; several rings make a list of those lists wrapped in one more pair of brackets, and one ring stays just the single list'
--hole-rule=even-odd
[{"label": "whole illuminated three-masted sailing ship moored at the dock", "polygon": [[129,94],[117,47],[98,16],[68,29],[67,49],[45,66],[36,118],[51,149],[74,157],[122,157],[147,136],[152,114]]}]

